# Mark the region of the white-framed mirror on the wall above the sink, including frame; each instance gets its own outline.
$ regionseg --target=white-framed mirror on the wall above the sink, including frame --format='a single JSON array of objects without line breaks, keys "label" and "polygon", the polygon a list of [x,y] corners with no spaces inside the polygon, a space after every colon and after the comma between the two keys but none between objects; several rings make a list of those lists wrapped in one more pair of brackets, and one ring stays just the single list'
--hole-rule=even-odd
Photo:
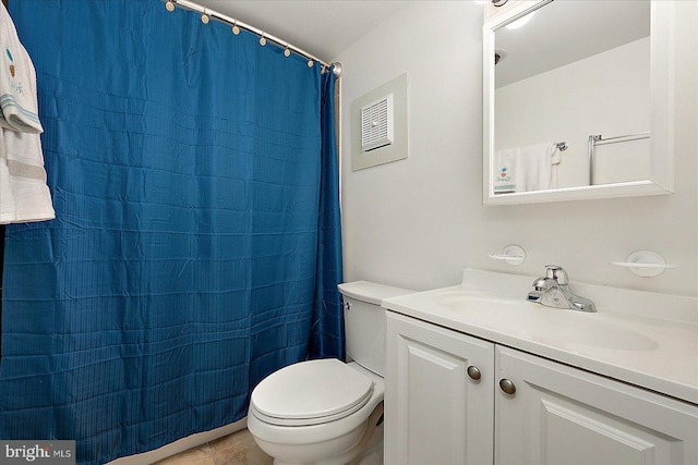
[{"label": "white-framed mirror on the wall above the sink, including frame", "polygon": [[671,193],[673,2],[509,3],[483,28],[484,204]]}]

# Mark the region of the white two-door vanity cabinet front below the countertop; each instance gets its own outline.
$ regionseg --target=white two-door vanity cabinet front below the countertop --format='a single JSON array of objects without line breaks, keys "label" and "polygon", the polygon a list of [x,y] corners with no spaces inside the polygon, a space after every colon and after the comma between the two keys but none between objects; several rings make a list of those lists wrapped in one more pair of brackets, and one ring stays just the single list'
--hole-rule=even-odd
[{"label": "white two-door vanity cabinet front below the countertop", "polygon": [[696,405],[386,314],[388,465],[698,464]]}]

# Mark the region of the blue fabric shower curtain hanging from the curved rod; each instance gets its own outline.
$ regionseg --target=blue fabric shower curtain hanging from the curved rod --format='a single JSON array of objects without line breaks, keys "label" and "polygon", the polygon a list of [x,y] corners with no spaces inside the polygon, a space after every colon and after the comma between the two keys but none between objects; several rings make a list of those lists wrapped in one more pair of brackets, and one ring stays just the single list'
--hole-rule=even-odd
[{"label": "blue fabric shower curtain hanging from the curved rod", "polygon": [[159,0],[10,13],[57,218],[7,230],[0,439],[105,463],[342,357],[333,73]]}]

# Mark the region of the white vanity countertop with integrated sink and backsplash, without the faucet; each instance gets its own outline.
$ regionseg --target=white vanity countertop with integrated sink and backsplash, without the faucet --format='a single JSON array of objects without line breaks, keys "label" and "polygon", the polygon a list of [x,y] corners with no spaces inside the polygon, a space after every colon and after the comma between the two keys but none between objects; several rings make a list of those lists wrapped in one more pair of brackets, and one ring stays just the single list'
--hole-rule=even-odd
[{"label": "white vanity countertop with integrated sink and backsplash, without the faucet", "polygon": [[383,307],[698,405],[698,298],[570,282],[597,313],[526,301],[535,277],[464,270]]}]

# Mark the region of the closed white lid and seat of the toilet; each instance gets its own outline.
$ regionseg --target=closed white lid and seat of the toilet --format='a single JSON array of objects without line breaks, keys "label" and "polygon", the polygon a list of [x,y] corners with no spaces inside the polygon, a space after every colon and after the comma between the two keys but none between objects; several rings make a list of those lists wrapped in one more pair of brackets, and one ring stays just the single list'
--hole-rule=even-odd
[{"label": "closed white lid and seat of the toilet", "polygon": [[251,404],[265,421],[316,425],[361,408],[373,381],[336,358],[301,362],[266,377],[252,391]]}]

